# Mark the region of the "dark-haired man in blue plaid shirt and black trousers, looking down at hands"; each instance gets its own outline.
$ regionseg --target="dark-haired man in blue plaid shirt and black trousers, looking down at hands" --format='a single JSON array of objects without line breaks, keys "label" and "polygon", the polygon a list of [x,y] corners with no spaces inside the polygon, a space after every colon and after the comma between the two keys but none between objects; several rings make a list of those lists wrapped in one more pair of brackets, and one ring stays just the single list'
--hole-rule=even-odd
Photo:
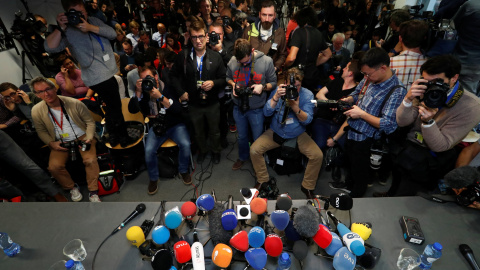
[{"label": "dark-haired man in blue plaid shirt and black trousers, looking down at hands", "polygon": [[[391,89],[402,83],[390,69],[390,57],[381,48],[370,49],[360,60],[365,76],[349,97],[343,99],[353,104],[345,112],[348,119],[345,152],[348,159],[348,177],[345,183],[332,184],[332,188],[347,189],[352,197],[362,197],[370,175],[370,147],[382,132],[390,134],[397,128],[396,109],[407,91],[397,88],[382,104]],[[343,126],[342,128],[343,129]]]}]

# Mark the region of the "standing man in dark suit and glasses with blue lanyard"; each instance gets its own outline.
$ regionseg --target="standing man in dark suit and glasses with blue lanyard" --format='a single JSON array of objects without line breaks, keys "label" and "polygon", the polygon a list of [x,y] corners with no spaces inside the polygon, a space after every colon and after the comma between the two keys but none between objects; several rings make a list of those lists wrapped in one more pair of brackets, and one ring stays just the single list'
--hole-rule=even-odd
[{"label": "standing man in dark suit and glasses with blue lanyard", "polygon": [[189,33],[193,47],[187,47],[178,54],[170,79],[180,99],[188,101],[195,142],[199,148],[197,162],[202,163],[208,152],[206,122],[213,163],[218,164],[221,151],[218,92],[226,85],[226,69],[220,54],[207,48],[207,28],[203,20],[192,21]]}]

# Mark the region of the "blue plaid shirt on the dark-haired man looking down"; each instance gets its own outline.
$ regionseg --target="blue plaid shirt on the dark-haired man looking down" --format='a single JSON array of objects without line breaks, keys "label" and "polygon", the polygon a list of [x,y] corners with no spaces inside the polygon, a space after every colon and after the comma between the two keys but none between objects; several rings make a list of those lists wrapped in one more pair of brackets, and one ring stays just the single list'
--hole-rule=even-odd
[{"label": "blue plaid shirt on the dark-haired man looking down", "polygon": [[367,137],[378,139],[380,138],[381,131],[385,132],[386,134],[390,134],[395,131],[397,128],[396,110],[407,94],[407,90],[405,90],[405,88],[398,88],[392,93],[388,101],[385,103],[382,112],[380,112],[382,102],[387,96],[388,92],[390,92],[390,89],[399,84],[401,85],[402,83],[394,74],[392,77],[382,83],[369,84],[363,98],[358,100],[359,94],[362,91],[365,82],[366,79],[363,79],[358,84],[355,91],[353,91],[353,93],[350,95],[353,97],[354,103],[356,103],[360,109],[373,116],[380,117],[380,129],[375,128],[363,119],[349,118],[349,126],[360,132],[348,132],[348,139],[354,141],[364,141],[367,139]]}]

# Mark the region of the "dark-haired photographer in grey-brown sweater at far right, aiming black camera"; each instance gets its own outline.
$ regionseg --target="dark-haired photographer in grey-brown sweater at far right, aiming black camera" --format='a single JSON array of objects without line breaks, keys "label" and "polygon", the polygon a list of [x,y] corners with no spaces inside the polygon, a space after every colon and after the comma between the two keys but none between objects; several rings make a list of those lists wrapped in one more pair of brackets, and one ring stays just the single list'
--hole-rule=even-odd
[{"label": "dark-haired photographer in grey-brown sweater at far right, aiming black camera", "polygon": [[454,146],[480,122],[480,99],[458,81],[461,65],[451,55],[425,62],[397,109],[400,127],[412,125],[394,159],[393,181],[381,196],[413,196],[432,190],[454,168]]}]

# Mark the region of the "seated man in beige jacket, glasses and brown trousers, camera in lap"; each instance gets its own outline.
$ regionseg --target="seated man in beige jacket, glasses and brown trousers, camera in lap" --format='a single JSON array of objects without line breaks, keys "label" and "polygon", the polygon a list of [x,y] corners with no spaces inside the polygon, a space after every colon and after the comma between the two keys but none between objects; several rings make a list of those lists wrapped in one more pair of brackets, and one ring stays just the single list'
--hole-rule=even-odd
[{"label": "seated man in beige jacket, glasses and brown trousers, camera in lap", "polygon": [[32,118],[38,137],[51,150],[48,170],[63,189],[70,190],[72,201],[81,201],[83,196],[65,169],[67,160],[75,160],[80,152],[87,173],[89,200],[100,202],[95,122],[87,106],[74,98],[57,96],[55,85],[43,77],[32,79],[30,89],[43,100],[33,107]]}]

